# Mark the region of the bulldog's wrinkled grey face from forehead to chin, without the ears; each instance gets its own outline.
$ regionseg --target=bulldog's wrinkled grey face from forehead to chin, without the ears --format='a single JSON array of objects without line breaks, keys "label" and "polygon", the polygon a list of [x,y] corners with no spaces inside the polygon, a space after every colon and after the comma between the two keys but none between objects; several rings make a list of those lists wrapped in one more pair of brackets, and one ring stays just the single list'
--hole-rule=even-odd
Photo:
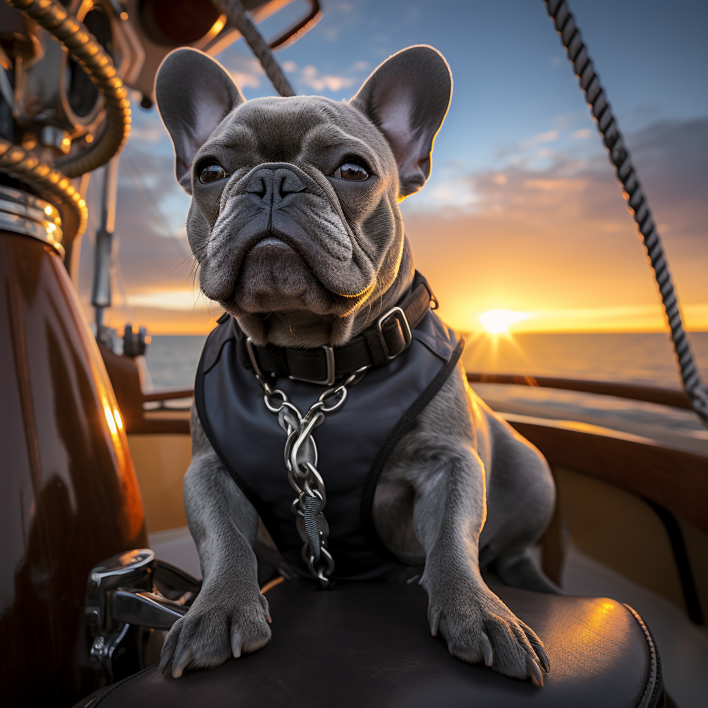
[{"label": "bulldog's wrinkled grey face from forehead to chin, without the ears", "polygon": [[196,154],[192,188],[202,290],[232,314],[343,316],[396,275],[396,161],[350,105],[240,105]]}]

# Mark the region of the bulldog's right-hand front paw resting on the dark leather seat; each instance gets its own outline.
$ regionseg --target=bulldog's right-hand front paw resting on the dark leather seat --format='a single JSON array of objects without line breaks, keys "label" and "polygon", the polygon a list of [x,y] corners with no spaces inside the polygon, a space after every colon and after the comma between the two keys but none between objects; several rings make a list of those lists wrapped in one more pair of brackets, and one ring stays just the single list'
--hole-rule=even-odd
[{"label": "bulldog's right-hand front paw resting on the dark leather seat", "polygon": [[543,685],[543,672],[550,670],[543,642],[535,632],[478,581],[428,590],[430,632],[438,629],[450,653],[462,661],[484,661],[497,673],[510,678],[530,678]]}]

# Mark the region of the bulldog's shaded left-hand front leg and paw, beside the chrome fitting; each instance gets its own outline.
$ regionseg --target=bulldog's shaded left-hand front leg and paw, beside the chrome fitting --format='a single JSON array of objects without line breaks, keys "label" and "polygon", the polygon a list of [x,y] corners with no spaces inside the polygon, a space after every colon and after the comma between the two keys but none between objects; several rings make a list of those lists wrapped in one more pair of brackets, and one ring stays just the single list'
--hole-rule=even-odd
[{"label": "bulldog's shaded left-hand front leg and paw, beside the chrome fitting", "polygon": [[202,566],[202,589],[173,625],[160,658],[178,678],[185,668],[219,666],[270,639],[268,600],[258,589],[252,545],[258,514],[236,486],[192,412],[192,461],[184,481],[189,530]]}]

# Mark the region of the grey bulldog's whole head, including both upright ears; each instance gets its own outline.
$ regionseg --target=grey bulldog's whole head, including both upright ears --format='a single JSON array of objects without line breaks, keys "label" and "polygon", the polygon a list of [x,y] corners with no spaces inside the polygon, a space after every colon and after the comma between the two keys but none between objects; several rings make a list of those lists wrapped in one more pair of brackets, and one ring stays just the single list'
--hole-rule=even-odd
[{"label": "grey bulldog's whole head, including both upright ears", "polygon": [[430,47],[394,55],[350,103],[244,101],[207,55],[166,57],[156,96],[204,294],[259,343],[273,313],[290,334],[346,341],[363,307],[409,283],[397,202],[428,178],[451,86]]}]

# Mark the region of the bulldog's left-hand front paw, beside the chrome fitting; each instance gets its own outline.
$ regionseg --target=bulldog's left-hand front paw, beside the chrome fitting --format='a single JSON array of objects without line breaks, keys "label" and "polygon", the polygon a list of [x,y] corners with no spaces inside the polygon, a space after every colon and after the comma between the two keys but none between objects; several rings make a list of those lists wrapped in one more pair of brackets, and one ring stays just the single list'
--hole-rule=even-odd
[{"label": "bulldog's left-hand front paw, beside the chrome fitting", "polygon": [[177,620],[162,647],[159,668],[179,678],[185,668],[211,668],[262,649],[270,641],[268,600],[255,589],[247,600],[223,589],[202,588],[194,605]]}]

